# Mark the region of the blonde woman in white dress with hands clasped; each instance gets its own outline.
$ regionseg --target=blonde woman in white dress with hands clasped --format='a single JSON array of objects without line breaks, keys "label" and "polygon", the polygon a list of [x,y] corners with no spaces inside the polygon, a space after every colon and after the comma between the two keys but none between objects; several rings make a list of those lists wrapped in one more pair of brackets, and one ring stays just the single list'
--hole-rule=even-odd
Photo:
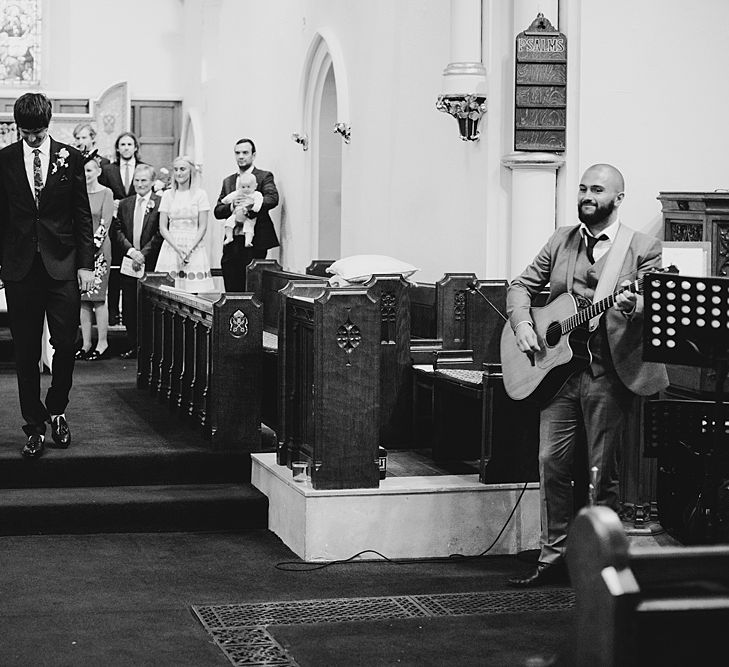
[{"label": "blonde woman in white dress with hands clasped", "polygon": [[172,163],[172,187],[159,205],[159,231],[164,239],[155,271],[169,273],[175,288],[185,292],[214,292],[215,283],[203,239],[210,202],[197,187],[196,170],[187,156]]}]

